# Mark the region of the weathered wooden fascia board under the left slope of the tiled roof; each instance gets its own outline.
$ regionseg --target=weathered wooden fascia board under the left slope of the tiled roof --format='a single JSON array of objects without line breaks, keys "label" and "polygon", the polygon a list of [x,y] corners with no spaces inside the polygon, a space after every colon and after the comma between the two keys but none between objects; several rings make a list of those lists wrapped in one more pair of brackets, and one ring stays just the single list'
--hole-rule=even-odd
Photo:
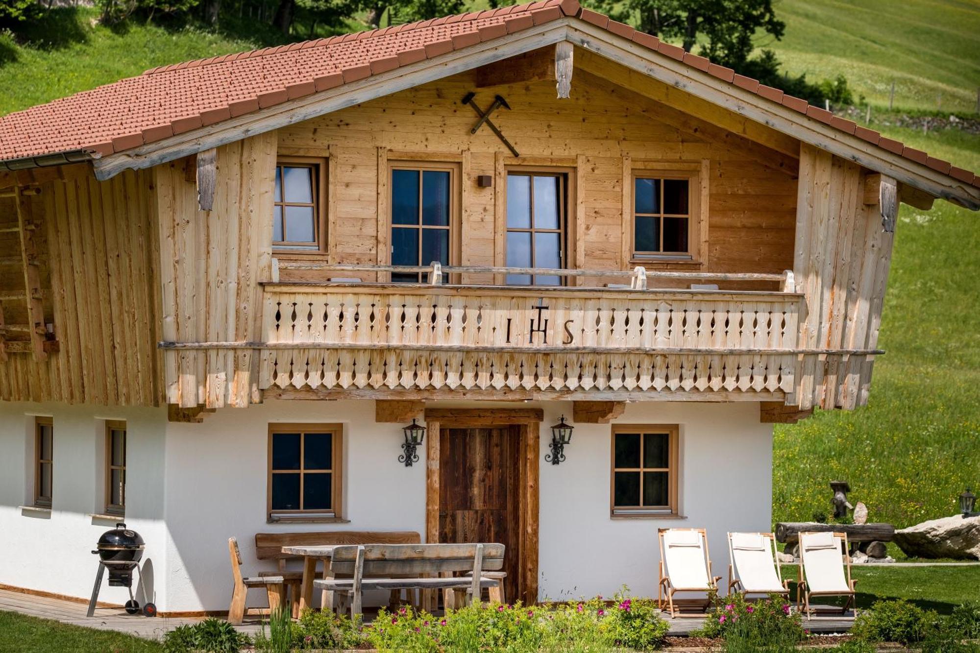
[{"label": "weathered wooden fascia board under the left slope of the tiled roof", "polygon": [[111,154],[93,161],[95,176],[105,180],[119,175],[124,170],[152,168],[202,150],[220,147],[282,126],[302,123],[429,81],[464,73],[501,59],[553,45],[565,40],[569,21],[570,19],[564,18],[528,27],[498,39],[478,43],[463,50],[454,50],[381,75],[371,75],[365,79],[342,84],[309,97],[284,102],[214,126],[199,127],[159,142]]}]

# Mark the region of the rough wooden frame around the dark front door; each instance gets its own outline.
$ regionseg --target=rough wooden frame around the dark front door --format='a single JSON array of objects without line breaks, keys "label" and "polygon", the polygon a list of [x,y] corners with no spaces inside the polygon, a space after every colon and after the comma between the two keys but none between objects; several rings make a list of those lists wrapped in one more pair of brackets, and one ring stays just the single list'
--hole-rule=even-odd
[{"label": "rough wooden frame around the dark front door", "polygon": [[439,447],[442,428],[517,427],[520,447],[520,584],[525,605],[538,600],[539,440],[544,411],[540,408],[426,408],[425,541],[439,541]]}]

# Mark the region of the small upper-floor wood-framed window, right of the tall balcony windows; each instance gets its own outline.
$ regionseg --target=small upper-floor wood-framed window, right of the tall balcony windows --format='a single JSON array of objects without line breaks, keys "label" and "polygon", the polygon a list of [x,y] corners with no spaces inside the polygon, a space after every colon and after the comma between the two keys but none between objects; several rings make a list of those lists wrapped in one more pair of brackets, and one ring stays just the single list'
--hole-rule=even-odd
[{"label": "small upper-floor wood-framed window, right of the tall balcony windows", "polygon": [[705,220],[701,213],[700,177],[699,172],[693,170],[633,172],[634,262],[699,260]]}]

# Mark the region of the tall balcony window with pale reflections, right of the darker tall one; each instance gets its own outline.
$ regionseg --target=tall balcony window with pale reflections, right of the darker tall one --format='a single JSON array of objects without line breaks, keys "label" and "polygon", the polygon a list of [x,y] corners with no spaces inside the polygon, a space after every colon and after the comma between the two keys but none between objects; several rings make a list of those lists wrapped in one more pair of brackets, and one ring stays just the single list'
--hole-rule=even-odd
[{"label": "tall balcony window with pale reflections, right of the darker tall one", "polygon": [[[513,170],[507,175],[507,266],[564,268],[567,175]],[[557,275],[508,275],[514,285],[562,285]]]}]

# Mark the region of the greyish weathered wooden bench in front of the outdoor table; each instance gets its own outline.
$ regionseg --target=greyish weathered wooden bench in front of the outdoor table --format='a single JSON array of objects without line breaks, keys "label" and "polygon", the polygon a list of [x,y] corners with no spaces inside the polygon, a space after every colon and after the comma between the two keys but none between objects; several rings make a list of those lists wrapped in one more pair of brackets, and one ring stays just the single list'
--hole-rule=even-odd
[{"label": "greyish weathered wooden bench in front of the outdoor table", "polygon": [[[363,594],[370,589],[463,589],[467,601],[478,601],[482,588],[499,586],[500,578],[488,578],[484,572],[503,569],[504,549],[497,543],[338,546],[330,573],[351,578],[318,579],[314,586],[350,601],[352,619],[362,614]],[[465,572],[471,576],[439,576]]]}]

